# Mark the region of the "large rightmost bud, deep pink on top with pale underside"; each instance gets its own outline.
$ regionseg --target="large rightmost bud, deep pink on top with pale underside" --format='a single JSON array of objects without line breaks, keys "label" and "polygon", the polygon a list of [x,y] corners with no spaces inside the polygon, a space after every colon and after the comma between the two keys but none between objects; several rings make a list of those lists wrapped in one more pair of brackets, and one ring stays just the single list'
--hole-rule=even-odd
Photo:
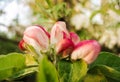
[{"label": "large rightmost bud, deep pink on top with pale underside", "polygon": [[88,64],[92,63],[98,56],[100,52],[100,45],[95,40],[85,40],[79,42],[72,54],[71,59],[77,60],[77,59],[83,59]]}]

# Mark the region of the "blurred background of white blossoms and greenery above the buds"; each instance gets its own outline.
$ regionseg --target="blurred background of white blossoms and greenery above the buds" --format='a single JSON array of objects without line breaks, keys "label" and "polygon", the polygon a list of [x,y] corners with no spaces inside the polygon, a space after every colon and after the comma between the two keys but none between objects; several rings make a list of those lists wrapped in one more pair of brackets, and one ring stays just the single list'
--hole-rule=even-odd
[{"label": "blurred background of white blossoms and greenery above the buds", "polygon": [[0,54],[21,52],[28,26],[50,31],[59,20],[81,40],[95,39],[102,51],[120,55],[120,0],[0,0]]}]

